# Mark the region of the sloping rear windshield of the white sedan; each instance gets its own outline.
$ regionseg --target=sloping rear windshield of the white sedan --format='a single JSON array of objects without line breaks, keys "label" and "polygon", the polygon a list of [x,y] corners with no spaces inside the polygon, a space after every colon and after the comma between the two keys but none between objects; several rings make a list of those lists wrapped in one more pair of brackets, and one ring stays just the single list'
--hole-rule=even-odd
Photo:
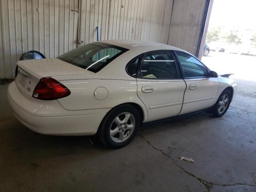
[{"label": "sloping rear windshield of the white sedan", "polygon": [[127,50],[111,44],[94,42],[66,52],[57,58],[96,73]]}]

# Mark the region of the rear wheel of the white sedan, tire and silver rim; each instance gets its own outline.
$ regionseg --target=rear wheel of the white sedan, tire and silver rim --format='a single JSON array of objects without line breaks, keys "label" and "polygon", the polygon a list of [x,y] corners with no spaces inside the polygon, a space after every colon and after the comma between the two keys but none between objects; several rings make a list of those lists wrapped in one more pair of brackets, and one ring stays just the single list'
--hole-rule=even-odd
[{"label": "rear wheel of the white sedan, tire and silver rim", "polygon": [[102,120],[98,137],[109,148],[122,148],[136,136],[140,127],[140,114],[129,104],[113,108]]}]

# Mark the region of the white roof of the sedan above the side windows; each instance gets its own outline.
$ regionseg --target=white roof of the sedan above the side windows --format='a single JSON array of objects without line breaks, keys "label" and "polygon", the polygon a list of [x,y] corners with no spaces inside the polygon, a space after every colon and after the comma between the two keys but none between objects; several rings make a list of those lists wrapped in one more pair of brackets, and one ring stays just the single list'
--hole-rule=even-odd
[{"label": "white roof of the sedan above the side windows", "polygon": [[177,50],[177,51],[184,51],[180,48],[174,47],[174,46],[170,46],[170,45],[166,45],[166,44],[162,44],[162,43],[157,43],[157,42],[151,42],[151,41],[141,41],[141,40],[103,40],[100,41],[102,43],[107,43],[107,44],[112,44],[115,46],[119,46],[119,47],[123,47],[129,50],[132,49],[148,49],[150,47],[152,47],[152,50],[164,50],[164,49],[168,49],[168,50]]}]

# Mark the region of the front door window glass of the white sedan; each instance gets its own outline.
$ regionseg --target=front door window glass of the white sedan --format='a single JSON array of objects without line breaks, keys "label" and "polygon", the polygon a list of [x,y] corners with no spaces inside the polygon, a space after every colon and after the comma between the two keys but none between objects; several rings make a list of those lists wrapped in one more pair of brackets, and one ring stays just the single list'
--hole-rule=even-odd
[{"label": "front door window glass of the white sedan", "polygon": [[176,52],[186,78],[205,77],[208,69],[196,58],[184,52]]}]

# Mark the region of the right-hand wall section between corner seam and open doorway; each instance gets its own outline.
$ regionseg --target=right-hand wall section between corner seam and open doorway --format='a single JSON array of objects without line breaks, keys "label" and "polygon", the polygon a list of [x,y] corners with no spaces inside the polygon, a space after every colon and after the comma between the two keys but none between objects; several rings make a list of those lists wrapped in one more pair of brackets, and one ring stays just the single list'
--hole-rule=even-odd
[{"label": "right-hand wall section between corner seam and open doorway", "polygon": [[206,0],[175,0],[168,44],[196,54]]}]

